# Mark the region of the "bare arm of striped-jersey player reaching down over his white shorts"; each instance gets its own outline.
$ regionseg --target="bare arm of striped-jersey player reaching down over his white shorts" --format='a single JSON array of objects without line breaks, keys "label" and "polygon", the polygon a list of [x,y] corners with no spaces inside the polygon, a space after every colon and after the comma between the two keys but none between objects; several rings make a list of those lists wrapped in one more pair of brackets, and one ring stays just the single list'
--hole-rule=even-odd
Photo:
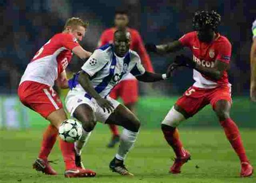
[{"label": "bare arm of striped-jersey player reaching down over his white shorts", "polygon": [[78,83],[83,87],[83,89],[90,94],[93,98],[96,99],[97,103],[100,107],[103,108],[104,112],[107,110],[107,112],[111,113],[114,110],[113,105],[111,102],[105,98],[102,98],[97,91],[93,88],[90,76],[86,72],[80,72],[78,77]]}]

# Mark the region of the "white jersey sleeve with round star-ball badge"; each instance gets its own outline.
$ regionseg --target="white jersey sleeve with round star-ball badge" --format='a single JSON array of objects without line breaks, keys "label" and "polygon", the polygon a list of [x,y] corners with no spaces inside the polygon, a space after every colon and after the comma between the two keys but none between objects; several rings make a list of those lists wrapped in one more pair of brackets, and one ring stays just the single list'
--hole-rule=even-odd
[{"label": "white jersey sleeve with round star-ball badge", "polygon": [[105,53],[102,50],[95,50],[91,57],[84,63],[81,69],[92,77],[107,64]]}]

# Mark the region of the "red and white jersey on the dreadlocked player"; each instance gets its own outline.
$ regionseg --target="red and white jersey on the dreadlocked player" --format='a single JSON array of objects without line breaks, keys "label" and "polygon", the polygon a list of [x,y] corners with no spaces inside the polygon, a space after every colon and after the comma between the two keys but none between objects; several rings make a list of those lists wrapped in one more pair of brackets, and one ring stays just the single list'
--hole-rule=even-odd
[{"label": "red and white jersey on the dreadlocked player", "polygon": [[[211,43],[203,43],[197,37],[197,32],[189,32],[179,39],[183,46],[190,48],[193,52],[193,60],[204,67],[214,67],[215,60],[230,63],[231,43],[224,36],[217,33]],[[228,83],[227,71],[224,71],[223,77],[218,81],[193,70],[193,78],[196,81],[193,86],[199,88],[214,88],[218,85],[230,85]]]}]

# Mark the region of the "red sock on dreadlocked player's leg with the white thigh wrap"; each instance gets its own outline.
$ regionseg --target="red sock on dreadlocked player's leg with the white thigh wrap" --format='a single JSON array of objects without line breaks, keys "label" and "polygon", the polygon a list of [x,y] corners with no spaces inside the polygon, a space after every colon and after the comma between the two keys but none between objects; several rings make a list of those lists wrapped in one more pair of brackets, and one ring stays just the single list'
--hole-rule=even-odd
[{"label": "red sock on dreadlocked player's leg with the white thigh wrap", "polygon": [[169,130],[163,129],[165,140],[167,143],[173,148],[176,157],[183,157],[184,156],[184,148],[179,139],[179,132],[176,127],[169,126]]}]

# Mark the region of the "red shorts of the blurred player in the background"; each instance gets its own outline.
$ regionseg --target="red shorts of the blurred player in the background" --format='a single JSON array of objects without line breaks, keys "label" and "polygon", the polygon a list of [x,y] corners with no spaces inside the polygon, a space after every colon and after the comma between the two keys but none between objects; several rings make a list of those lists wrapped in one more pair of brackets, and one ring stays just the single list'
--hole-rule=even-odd
[{"label": "red shorts of the blurred player in the background", "polygon": [[121,81],[110,92],[110,97],[113,99],[121,97],[125,105],[136,103],[138,101],[138,81],[136,79]]}]

